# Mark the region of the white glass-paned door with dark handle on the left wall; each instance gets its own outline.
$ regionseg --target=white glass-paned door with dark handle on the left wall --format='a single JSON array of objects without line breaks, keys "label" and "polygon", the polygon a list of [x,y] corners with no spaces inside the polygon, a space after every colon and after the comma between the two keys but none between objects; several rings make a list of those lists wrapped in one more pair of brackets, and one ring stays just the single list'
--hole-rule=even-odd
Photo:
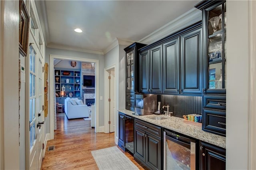
[{"label": "white glass-paned door with dark handle on the left wall", "polygon": [[[32,39],[32,40],[31,40]],[[42,164],[42,144],[44,141],[44,101],[43,58],[33,38],[29,46],[29,169],[37,170]]]}]

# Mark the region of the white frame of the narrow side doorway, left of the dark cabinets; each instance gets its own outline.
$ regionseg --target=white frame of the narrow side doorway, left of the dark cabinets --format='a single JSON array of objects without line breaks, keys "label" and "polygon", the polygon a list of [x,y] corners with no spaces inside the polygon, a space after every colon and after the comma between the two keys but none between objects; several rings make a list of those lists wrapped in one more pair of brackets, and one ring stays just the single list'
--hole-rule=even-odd
[{"label": "white frame of the narrow side doorway, left of the dark cabinets", "polygon": [[[108,124],[108,119],[109,119],[109,105],[108,105],[108,97],[109,97],[109,83],[108,83],[108,76],[109,76],[109,72],[108,72],[108,70],[110,70],[110,69],[114,69],[115,70],[115,77],[114,77],[114,84],[116,85],[116,65],[115,64],[113,64],[113,65],[111,65],[111,66],[109,66],[109,67],[106,67],[105,68],[105,78],[104,78],[104,85],[105,85],[105,94],[104,94],[104,96],[105,96],[105,99],[104,99],[104,106],[105,106],[105,108],[104,108],[104,110],[105,110],[105,114],[104,114],[104,132],[105,133],[109,133],[109,131],[110,131],[110,129],[109,129],[109,124]],[[114,91],[116,91],[116,86],[115,86],[115,89],[114,89]],[[116,94],[115,94],[115,98],[116,98]],[[116,99],[115,99],[116,100]],[[115,109],[116,109],[116,102],[115,102]],[[116,111],[115,111],[115,113],[116,113]],[[115,123],[116,123],[116,121],[115,121]],[[115,130],[115,133],[116,133],[116,130]]]}]

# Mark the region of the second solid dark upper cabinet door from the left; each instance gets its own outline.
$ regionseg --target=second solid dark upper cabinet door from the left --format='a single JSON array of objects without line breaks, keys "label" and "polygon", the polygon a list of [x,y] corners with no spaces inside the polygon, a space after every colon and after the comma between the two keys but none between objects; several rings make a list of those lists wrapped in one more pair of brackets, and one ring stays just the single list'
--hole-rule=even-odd
[{"label": "second solid dark upper cabinet door from the left", "polygon": [[162,44],[150,50],[150,93],[162,93]]}]

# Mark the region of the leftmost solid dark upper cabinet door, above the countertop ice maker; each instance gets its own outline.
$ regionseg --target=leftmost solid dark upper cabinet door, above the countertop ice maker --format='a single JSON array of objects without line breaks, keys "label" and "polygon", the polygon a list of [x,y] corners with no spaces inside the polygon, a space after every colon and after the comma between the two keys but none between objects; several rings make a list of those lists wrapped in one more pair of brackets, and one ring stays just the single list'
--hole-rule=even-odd
[{"label": "leftmost solid dark upper cabinet door, above the countertop ice maker", "polygon": [[139,92],[149,93],[149,51],[139,54]]}]

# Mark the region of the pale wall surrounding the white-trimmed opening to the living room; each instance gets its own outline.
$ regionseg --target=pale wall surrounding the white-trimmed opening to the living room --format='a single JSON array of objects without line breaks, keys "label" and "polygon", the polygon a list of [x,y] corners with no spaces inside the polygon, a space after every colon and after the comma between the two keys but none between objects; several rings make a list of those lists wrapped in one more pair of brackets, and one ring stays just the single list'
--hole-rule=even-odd
[{"label": "pale wall surrounding the white-trimmed opening to the living room", "polygon": [[[49,63],[50,54],[79,57],[83,59],[98,59],[99,60],[99,96],[103,96],[104,99],[104,56],[100,54],[84,53],[79,51],[69,51],[65,49],[46,48],[46,60]],[[74,67],[72,67],[74,68]],[[51,81],[51,80],[49,80]],[[51,101],[50,101],[51,102]],[[99,126],[104,126],[104,101],[99,100]],[[50,115],[45,118],[46,133],[50,133]]]}]

